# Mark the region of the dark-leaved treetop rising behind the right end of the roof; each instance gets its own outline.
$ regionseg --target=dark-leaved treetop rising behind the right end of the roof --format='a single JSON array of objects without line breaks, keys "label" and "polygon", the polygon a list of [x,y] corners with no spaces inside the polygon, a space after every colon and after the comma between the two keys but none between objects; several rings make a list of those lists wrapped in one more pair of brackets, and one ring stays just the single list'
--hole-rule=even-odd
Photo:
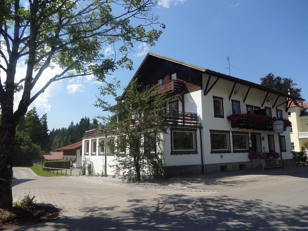
[{"label": "dark-leaved treetop rising behind the right end of the roof", "polygon": [[293,82],[291,78],[283,78],[280,76],[275,76],[273,73],[268,73],[260,79],[261,85],[265,87],[272,88],[277,91],[282,91],[288,93],[290,89],[290,94],[301,97],[302,88],[296,87],[297,83]]}]

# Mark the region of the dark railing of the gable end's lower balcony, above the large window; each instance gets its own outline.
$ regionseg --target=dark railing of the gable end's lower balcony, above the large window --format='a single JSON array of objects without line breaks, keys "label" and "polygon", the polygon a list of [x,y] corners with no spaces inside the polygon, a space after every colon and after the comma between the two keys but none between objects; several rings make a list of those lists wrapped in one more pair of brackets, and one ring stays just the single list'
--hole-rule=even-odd
[{"label": "dark railing of the gable end's lower balcony, above the large window", "polygon": [[199,115],[192,112],[175,112],[167,110],[165,112],[165,123],[170,127],[192,127],[199,126]]}]

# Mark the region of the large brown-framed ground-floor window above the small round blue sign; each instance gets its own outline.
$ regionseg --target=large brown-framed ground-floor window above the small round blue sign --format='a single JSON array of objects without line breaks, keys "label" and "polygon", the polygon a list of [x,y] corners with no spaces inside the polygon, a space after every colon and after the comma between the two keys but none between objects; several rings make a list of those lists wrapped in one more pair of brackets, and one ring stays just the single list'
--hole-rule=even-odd
[{"label": "large brown-framed ground-floor window above the small round blue sign", "polygon": [[210,130],[211,153],[230,153],[230,131]]}]

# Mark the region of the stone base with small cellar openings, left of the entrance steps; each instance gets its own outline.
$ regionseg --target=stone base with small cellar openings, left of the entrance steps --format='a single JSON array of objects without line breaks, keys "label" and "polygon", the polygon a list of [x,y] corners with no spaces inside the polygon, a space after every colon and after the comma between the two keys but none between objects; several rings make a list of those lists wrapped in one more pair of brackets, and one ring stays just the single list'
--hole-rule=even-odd
[{"label": "stone base with small cellar openings, left of the entrance steps", "polygon": [[224,168],[224,171],[240,170],[240,165],[242,166],[242,169],[252,168],[251,161],[219,163],[219,164],[205,164],[204,165],[204,173],[220,172],[221,166],[225,166],[225,167],[222,167],[222,168]]}]

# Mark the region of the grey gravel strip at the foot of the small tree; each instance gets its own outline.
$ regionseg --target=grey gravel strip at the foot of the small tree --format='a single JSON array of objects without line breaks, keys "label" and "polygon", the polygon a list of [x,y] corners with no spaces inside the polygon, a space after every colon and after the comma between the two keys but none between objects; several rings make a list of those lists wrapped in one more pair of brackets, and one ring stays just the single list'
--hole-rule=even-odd
[{"label": "grey gravel strip at the foot of the small tree", "polygon": [[161,190],[161,191],[180,191],[180,192],[217,192],[210,190],[202,190],[198,188],[189,188],[183,184],[169,184],[167,182],[127,182],[127,180],[121,180],[110,176],[79,176],[84,178],[90,178],[95,180],[107,181],[115,184],[121,184],[129,188],[147,189],[147,190]]}]

